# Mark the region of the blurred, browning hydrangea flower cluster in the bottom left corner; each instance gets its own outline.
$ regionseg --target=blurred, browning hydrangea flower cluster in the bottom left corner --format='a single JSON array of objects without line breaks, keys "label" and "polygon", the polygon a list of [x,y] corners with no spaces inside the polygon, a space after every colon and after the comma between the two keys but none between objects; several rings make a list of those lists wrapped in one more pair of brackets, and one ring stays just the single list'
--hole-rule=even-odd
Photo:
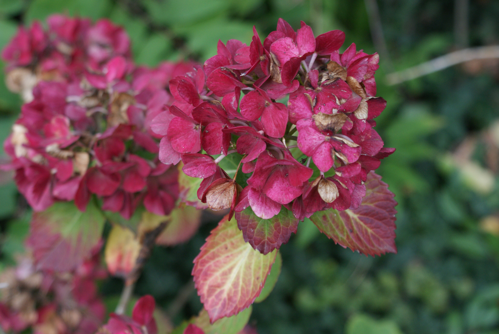
[{"label": "blurred, browning hydrangea flower cluster in the bottom left corner", "polygon": [[97,296],[95,279],[106,276],[98,266],[98,254],[74,272],[37,270],[30,258],[0,276],[0,326],[20,333],[32,328],[37,334],[93,334],[106,315]]}]

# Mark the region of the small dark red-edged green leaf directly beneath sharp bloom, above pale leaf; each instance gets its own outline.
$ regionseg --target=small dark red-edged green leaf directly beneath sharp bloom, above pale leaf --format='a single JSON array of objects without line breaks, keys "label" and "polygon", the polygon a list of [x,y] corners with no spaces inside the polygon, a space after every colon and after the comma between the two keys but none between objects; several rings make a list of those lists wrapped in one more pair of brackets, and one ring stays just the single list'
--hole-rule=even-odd
[{"label": "small dark red-edged green leaf directly beneath sharp bloom, above pale leaf", "polygon": [[285,207],[281,207],[280,212],[270,219],[257,217],[251,207],[236,212],[236,218],[245,241],[262,254],[279,249],[288,242],[291,232],[296,233],[298,227],[298,219]]}]

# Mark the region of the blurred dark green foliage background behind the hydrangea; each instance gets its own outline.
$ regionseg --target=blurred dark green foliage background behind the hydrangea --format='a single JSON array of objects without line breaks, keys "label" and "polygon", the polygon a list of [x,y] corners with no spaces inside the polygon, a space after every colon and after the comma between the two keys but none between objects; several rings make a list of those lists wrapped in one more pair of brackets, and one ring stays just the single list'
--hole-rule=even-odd
[{"label": "blurred dark green foliage background behind the hydrangea", "polygon": [[[19,23],[51,13],[108,17],[131,36],[139,64],[216,53],[218,39],[250,43],[279,17],[315,34],[346,33],[343,48],[380,53],[377,118],[395,154],[378,172],[399,202],[398,254],[365,257],[335,245],[306,220],[282,246],[274,291],[253,306],[258,333],[499,333],[499,59],[477,60],[404,82],[386,74],[468,46],[499,44],[497,0],[0,0],[0,47]],[[3,67],[3,65],[0,65]],[[3,70],[0,72],[3,73]],[[0,138],[20,108],[0,75]],[[0,266],[22,252],[29,212],[12,175],[0,174]],[[157,247],[136,289],[150,293],[178,324],[201,303],[192,260],[216,226],[188,243]],[[1,268],[0,268],[1,269]],[[108,280],[109,305],[122,283]]]}]

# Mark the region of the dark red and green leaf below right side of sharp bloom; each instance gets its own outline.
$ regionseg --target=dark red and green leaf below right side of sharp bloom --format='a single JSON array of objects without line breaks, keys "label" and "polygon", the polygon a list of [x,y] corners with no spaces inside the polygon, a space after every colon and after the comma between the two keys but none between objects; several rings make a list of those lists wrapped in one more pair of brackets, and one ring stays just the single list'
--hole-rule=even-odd
[{"label": "dark red and green leaf below right side of sharp bloom", "polygon": [[381,176],[372,171],[365,186],[366,196],[357,209],[318,211],[310,219],[328,238],[345,248],[372,256],[397,253],[394,194]]}]

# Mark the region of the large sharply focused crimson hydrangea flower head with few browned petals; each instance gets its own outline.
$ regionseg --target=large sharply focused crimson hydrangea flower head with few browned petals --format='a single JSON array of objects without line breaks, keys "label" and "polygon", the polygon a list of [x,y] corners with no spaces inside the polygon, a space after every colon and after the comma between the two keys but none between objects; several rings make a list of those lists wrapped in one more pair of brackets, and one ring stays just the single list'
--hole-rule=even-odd
[{"label": "large sharply focused crimson hydrangea flower head with few browned petals", "polygon": [[[163,136],[160,161],[182,160],[203,178],[199,199],[231,216],[248,206],[269,219],[284,205],[300,220],[357,208],[367,173],[395,151],[373,129],[386,106],[374,97],[378,55],[355,44],[339,54],[342,31],[314,37],[304,22],[295,31],[279,19],[263,43],[253,33],[250,46],[219,41],[203,68],[170,81],[175,102],[151,126]],[[236,152],[244,183],[218,165]]]}]

